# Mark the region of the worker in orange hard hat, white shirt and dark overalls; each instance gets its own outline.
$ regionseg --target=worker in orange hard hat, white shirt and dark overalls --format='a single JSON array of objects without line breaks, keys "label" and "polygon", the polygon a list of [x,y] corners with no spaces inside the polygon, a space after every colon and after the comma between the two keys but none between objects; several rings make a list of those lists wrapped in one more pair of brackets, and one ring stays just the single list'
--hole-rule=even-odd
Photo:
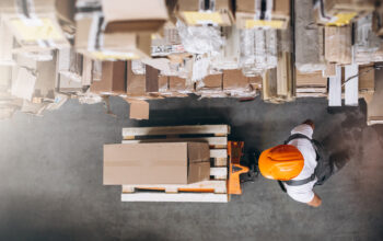
[{"label": "worker in orange hard hat, white shirt and dark overalls", "polygon": [[321,147],[312,139],[313,133],[314,123],[305,120],[292,129],[285,145],[263,151],[258,167],[265,177],[278,180],[292,199],[318,207],[322,199],[313,187],[323,184],[334,168],[321,158]]}]

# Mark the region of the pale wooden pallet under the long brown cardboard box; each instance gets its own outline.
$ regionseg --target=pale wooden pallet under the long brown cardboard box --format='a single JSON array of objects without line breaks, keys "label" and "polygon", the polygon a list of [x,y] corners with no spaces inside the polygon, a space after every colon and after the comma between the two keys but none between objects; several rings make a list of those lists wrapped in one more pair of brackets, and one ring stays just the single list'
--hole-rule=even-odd
[{"label": "pale wooden pallet under the long brown cardboard box", "polygon": [[204,141],[210,147],[210,180],[186,184],[123,185],[123,202],[228,203],[227,125],[138,127],[123,129],[123,144]]}]

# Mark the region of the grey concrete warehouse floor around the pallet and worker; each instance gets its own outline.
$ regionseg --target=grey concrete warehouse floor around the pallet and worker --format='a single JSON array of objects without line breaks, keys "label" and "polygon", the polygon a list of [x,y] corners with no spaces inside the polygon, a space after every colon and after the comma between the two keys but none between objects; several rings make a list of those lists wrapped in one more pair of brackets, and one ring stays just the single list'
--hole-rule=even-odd
[{"label": "grey concrete warehouse floor around the pallet and worker", "polygon": [[[128,104],[70,101],[44,117],[0,122],[0,240],[382,240],[383,126],[365,126],[365,104],[327,111],[324,99],[274,105],[196,97],[151,102],[150,120],[128,119]],[[256,151],[280,144],[312,118],[315,137],[349,163],[315,187],[321,208],[291,200],[258,177],[229,204],[120,203],[102,185],[103,144],[123,127],[230,124]]]}]

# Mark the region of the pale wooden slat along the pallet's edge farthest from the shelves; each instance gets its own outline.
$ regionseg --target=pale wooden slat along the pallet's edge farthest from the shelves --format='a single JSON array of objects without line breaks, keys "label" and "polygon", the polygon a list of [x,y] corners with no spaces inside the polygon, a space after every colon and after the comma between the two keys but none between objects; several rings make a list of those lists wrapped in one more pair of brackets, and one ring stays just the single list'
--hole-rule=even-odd
[{"label": "pale wooden slat along the pallet's edge farthest from the shelves", "polygon": [[228,203],[229,197],[228,194],[212,193],[123,193],[121,202]]}]

